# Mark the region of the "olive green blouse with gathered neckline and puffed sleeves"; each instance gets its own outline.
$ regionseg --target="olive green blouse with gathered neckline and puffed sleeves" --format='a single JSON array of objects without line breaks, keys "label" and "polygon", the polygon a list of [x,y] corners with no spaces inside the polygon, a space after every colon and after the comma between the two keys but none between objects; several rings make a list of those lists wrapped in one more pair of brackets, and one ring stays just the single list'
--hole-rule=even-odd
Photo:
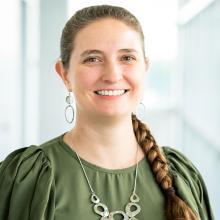
[{"label": "olive green blouse with gathered neckline and puffed sleeves", "polygon": [[[169,147],[162,150],[177,194],[201,220],[213,220],[207,190],[198,170],[176,150]],[[81,160],[101,202],[110,211],[125,211],[136,166],[111,170]],[[141,206],[136,219],[165,220],[165,197],[146,158],[139,162],[136,192]],[[40,146],[18,149],[0,165],[0,220],[101,219],[93,210],[90,195],[77,156],[64,143],[63,135]]]}]

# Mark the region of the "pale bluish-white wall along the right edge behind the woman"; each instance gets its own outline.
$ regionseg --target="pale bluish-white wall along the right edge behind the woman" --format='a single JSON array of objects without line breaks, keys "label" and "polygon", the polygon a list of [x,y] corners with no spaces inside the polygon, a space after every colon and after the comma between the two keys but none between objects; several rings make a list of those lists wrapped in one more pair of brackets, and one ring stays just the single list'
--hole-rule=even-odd
[{"label": "pale bluish-white wall along the right edge behind the woman", "polygon": [[216,0],[179,27],[184,152],[203,174],[216,219],[220,218],[219,24],[220,1]]}]

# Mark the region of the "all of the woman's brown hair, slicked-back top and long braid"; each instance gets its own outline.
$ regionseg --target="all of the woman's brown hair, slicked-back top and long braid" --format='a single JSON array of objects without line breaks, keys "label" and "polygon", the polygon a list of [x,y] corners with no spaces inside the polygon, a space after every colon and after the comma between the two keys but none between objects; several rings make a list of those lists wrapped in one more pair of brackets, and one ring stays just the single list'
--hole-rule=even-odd
[{"label": "all of the woman's brown hair, slicked-back top and long braid", "polygon": [[[114,18],[132,27],[140,34],[144,52],[144,35],[137,18],[122,7],[98,5],[77,11],[66,23],[61,37],[61,61],[68,68],[71,53],[74,49],[76,34],[90,23],[103,18]],[[146,124],[132,114],[132,123],[137,142],[143,148],[152,167],[157,183],[166,196],[166,216],[168,220],[197,220],[191,208],[180,199],[174,190],[172,178],[169,175],[166,158],[160,152],[154,137]]]}]

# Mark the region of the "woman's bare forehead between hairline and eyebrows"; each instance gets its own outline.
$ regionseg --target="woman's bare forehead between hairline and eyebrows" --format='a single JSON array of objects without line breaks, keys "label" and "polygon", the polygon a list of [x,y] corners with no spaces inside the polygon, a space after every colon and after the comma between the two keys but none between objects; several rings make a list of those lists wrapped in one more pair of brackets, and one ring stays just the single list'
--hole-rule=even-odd
[{"label": "woman's bare forehead between hairline and eyebrows", "polygon": [[73,52],[88,49],[111,52],[121,48],[141,51],[140,34],[122,21],[105,18],[92,22],[77,33]]}]

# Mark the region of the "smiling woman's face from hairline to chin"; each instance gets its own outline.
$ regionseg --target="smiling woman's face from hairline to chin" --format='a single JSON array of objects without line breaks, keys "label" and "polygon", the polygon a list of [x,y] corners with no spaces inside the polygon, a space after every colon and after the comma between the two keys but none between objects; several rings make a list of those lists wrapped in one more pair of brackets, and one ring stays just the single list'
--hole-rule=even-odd
[{"label": "smiling woman's face from hairline to chin", "polygon": [[139,34],[126,24],[106,18],[83,28],[66,70],[77,112],[131,115],[143,94],[147,65]]}]

